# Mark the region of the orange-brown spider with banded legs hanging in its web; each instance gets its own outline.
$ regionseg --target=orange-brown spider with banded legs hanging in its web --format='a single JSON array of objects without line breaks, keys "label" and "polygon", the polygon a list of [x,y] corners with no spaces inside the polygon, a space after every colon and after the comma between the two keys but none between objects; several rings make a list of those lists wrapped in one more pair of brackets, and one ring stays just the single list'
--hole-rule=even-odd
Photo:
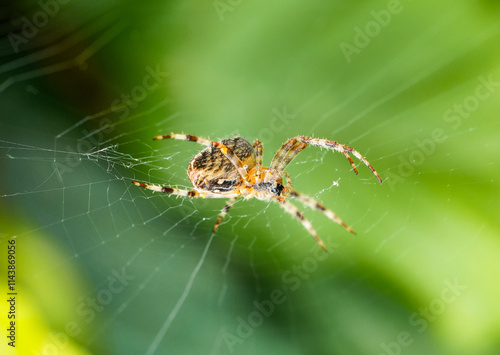
[{"label": "orange-brown spider with banded legs hanging in its web", "polygon": [[[349,156],[349,153],[353,154],[370,168],[377,179],[382,182],[375,169],[356,150],[327,139],[305,136],[290,138],[276,152],[268,168],[262,166],[263,147],[259,140],[255,140],[253,145],[251,145],[247,140],[239,136],[216,142],[187,134],[174,133],[153,138],[153,140],[161,139],[186,140],[207,146],[207,148],[194,156],[188,166],[187,173],[195,188],[185,190],[170,186],[143,184],[135,181],[133,184],[169,195],[193,198],[228,198],[229,200],[221,210],[217,222],[213,227],[214,232],[238,197],[242,196],[245,199],[255,197],[259,200],[277,202],[286,212],[300,221],[304,228],[316,239],[321,248],[326,250],[325,244],[314,230],[312,224],[294,204],[288,201],[287,197],[292,196],[305,206],[321,211],[326,217],[340,224],[352,234],[355,234],[335,213],[318,203],[312,197],[303,195],[292,189],[290,175],[284,170],[293,158],[309,144],[342,153],[349,160],[354,172],[357,174],[356,165]],[[286,183],[284,180],[286,180]]]}]

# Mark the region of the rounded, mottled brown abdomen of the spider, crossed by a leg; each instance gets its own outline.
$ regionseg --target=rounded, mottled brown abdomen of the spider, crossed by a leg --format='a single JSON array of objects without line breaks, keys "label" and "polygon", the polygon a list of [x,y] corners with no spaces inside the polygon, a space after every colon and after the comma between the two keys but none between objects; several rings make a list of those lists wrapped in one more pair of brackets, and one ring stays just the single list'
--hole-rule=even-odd
[{"label": "rounded, mottled brown abdomen of the spider, crossed by a leg", "polygon": [[[248,169],[255,166],[255,151],[242,137],[221,141]],[[207,191],[231,191],[241,184],[238,169],[219,148],[207,147],[196,154],[189,163],[188,176],[193,185]]]}]

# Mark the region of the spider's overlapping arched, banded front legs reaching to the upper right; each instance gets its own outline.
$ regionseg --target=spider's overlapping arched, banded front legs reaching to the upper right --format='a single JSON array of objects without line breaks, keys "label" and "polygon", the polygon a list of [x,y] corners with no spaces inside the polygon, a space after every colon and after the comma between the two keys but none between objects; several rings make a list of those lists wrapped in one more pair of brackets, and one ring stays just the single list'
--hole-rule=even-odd
[{"label": "spider's overlapping arched, banded front legs reaching to the upper right", "polygon": [[[335,141],[330,141],[327,139],[320,139],[320,138],[311,138],[306,136],[297,136],[295,138],[291,138],[288,141],[286,141],[283,144],[283,146],[278,150],[278,152],[276,152],[276,154],[274,155],[270,169],[271,168],[276,169],[278,172],[285,169],[286,166],[292,161],[292,159],[295,158],[295,156],[305,148],[305,146],[299,146],[300,143],[295,145],[297,142],[304,143],[306,144],[306,146],[310,144],[321,148],[336,150],[337,152],[342,153],[349,160],[354,169],[354,172],[357,174],[358,169],[356,169],[356,165],[349,156],[349,153],[351,153],[356,158],[361,160],[368,168],[370,168],[372,173],[377,177],[378,181],[382,183],[382,179],[377,174],[373,166],[371,166],[368,160],[366,160],[357,150],[347,145],[337,143]],[[295,147],[299,148],[293,149]]]}]

